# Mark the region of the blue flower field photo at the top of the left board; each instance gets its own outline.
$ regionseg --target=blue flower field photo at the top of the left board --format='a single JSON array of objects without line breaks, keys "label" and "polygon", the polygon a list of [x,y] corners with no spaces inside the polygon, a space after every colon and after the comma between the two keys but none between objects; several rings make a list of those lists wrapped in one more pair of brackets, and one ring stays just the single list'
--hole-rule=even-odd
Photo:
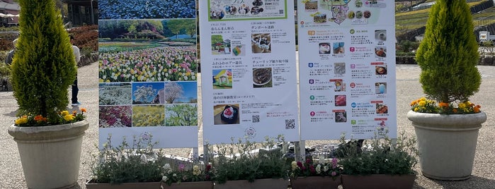
[{"label": "blue flower field photo at the top of the left board", "polygon": [[195,0],[99,0],[100,19],[195,18]]}]

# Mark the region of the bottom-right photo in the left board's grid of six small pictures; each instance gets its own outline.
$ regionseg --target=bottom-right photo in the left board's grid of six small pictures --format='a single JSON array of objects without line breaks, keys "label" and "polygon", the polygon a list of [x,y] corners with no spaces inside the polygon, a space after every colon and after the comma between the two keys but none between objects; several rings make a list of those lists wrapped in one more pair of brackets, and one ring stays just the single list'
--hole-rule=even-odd
[{"label": "bottom-right photo in the left board's grid of six small pictures", "polygon": [[165,126],[198,126],[197,104],[167,104]]}]

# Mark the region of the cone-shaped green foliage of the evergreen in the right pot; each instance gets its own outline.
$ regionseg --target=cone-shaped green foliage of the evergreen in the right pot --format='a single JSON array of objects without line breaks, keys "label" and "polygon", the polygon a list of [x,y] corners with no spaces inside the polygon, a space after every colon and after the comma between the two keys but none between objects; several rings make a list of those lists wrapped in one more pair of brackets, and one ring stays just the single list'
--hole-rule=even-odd
[{"label": "cone-shaped green foliage of the evergreen in the right pot", "polygon": [[465,1],[439,0],[431,8],[416,52],[423,92],[437,102],[466,102],[481,85],[478,45]]}]

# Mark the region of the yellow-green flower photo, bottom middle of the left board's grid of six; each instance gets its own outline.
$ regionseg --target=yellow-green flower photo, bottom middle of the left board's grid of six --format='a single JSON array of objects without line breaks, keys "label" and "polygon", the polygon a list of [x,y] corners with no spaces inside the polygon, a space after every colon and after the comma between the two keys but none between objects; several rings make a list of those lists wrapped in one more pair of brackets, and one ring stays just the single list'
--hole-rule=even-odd
[{"label": "yellow-green flower photo, bottom middle of the left board's grid of six", "polygon": [[132,106],[132,127],[164,126],[165,106]]}]

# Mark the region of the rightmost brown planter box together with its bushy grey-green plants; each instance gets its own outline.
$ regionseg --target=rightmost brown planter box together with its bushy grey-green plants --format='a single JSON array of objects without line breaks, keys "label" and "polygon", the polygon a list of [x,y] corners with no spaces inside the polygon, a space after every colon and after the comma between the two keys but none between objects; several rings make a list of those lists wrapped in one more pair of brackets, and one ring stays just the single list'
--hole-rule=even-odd
[{"label": "rightmost brown planter box together with its bushy grey-green plants", "polygon": [[[402,132],[397,140],[388,138],[388,130],[378,130],[363,146],[341,137],[338,164],[342,167],[343,188],[412,188],[416,178],[418,150],[416,139]],[[345,145],[343,145],[345,144]]]}]

